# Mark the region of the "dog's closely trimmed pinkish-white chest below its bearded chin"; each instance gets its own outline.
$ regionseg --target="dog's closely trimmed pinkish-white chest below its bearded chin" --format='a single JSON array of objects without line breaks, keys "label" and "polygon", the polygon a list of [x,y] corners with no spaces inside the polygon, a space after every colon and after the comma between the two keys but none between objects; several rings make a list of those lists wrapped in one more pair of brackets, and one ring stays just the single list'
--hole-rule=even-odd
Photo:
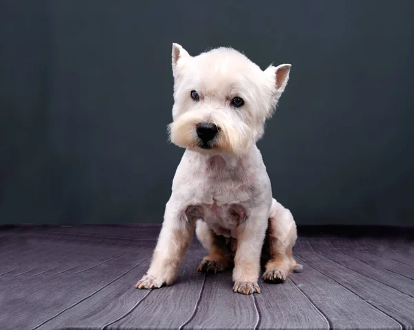
[{"label": "dog's closely trimmed pinkish-white chest below its bearded chin", "polygon": [[186,165],[180,170],[185,179],[181,185],[177,181],[176,187],[185,186],[187,214],[204,220],[219,236],[236,238],[237,226],[248,218],[261,191],[255,170],[242,161],[221,156],[203,161],[195,156]]}]

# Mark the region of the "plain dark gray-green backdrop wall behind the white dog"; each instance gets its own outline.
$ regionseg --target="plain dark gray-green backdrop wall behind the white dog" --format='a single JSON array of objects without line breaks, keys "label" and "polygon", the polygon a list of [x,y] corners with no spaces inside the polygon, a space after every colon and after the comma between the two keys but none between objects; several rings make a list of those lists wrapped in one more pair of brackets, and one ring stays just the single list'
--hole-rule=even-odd
[{"label": "plain dark gray-green backdrop wall behind the white dog", "polygon": [[172,42],[293,68],[259,142],[297,223],[414,225],[414,1],[0,2],[0,223],[159,223]]}]

